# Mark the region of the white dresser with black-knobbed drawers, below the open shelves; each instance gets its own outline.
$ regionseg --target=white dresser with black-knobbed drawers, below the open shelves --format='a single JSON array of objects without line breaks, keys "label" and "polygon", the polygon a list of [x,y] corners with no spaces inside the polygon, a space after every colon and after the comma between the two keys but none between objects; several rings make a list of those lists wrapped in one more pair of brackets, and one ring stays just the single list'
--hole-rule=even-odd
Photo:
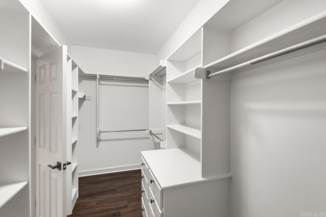
[{"label": "white dresser with black-knobbed drawers, below the open shelves", "polygon": [[143,216],[229,215],[231,175],[205,179],[187,149],[142,151]]}]

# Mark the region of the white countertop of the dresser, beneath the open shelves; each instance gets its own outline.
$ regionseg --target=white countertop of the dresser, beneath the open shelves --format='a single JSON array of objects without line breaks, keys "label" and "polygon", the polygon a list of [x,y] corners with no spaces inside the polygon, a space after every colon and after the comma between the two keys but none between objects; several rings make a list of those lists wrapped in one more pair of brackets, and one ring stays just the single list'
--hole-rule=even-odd
[{"label": "white countertop of the dresser, beneath the open shelves", "polygon": [[202,178],[201,163],[187,148],[142,151],[142,155],[162,189],[232,177],[231,174],[221,174]]}]

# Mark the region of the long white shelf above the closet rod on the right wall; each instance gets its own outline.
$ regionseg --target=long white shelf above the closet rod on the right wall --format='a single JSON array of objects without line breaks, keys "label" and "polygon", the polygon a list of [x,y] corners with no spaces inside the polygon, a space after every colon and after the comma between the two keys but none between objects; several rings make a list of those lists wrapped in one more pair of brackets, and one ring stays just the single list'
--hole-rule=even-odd
[{"label": "long white shelf above the closet rod on the right wall", "polygon": [[[215,60],[204,66],[204,68],[225,69],[233,67],[253,58],[278,51],[324,34],[326,34],[326,13],[319,14],[305,22],[292,26],[281,33]],[[316,45],[310,49],[323,49],[324,47],[325,46]]]}]

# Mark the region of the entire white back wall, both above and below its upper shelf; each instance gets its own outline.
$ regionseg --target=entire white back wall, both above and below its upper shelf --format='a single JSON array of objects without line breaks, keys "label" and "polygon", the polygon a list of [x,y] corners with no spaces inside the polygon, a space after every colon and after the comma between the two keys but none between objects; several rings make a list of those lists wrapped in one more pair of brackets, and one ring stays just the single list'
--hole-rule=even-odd
[{"label": "entire white back wall, both above and below its upper shelf", "polygon": [[[145,77],[155,68],[155,55],[72,46],[76,63],[88,74]],[[79,77],[79,91],[92,97],[79,101],[79,175],[140,168],[141,151],[154,148],[145,132],[102,134],[96,139],[96,79]],[[110,84],[110,85],[107,85]],[[148,83],[102,81],[101,129],[148,129]]]}]

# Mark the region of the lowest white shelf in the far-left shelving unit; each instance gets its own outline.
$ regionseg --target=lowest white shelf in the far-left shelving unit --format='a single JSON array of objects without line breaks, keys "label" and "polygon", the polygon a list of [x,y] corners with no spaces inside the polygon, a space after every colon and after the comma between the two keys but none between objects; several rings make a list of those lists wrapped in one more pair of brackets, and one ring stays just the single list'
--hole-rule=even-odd
[{"label": "lowest white shelf in the far-left shelving unit", "polygon": [[0,208],[11,198],[13,198],[20,190],[22,190],[27,183],[27,181],[23,181],[7,185],[0,185]]}]

